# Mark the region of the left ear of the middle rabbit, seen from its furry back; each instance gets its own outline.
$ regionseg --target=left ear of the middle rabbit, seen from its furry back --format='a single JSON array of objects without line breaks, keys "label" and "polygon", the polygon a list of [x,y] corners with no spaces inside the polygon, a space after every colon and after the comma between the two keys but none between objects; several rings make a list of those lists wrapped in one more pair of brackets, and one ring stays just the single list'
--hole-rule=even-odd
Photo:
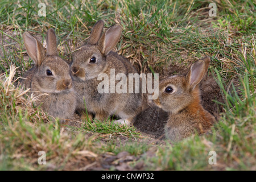
[{"label": "left ear of the middle rabbit, seen from its furry back", "polygon": [[92,28],[92,32],[90,34],[90,38],[89,38],[87,44],[89,44],[89,45],[97,44],[98,40],[101,37],[103,28],[104,28],[104,21],[98,20],[98,22],[96,22]]}]

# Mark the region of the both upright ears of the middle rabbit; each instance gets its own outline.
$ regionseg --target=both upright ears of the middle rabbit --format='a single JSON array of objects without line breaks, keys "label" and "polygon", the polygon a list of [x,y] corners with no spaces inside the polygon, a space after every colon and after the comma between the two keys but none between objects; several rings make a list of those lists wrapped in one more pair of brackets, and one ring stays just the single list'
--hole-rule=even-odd
[{"label": "both upright ears of the middle rabbit", "polygon": [[98,22],[96,22],[92,28],[92,32],[90,34],[87,44],[97,44],[100,48],[101,53],[103,55],[108,55],[108,53],[112,51],[117,45],[121,37],[122,27],[120,24],[114,24],[113,26],[109,27],[108,30],[102,33],[103,28],[104,21],[98,20]]}]

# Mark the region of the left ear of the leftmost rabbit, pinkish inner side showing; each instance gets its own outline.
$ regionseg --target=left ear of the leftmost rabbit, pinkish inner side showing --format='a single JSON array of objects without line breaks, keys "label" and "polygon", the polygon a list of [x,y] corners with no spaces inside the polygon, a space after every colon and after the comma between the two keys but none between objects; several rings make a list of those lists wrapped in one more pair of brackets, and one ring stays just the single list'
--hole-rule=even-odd
[{"label": "left ear of the leftmost rabbit, pinkish inner side showing", "polygon": [[24,32],[23,40],[28,56],[34,60],[36,67],[39,67],[45,56],[43,45],[28,32]]}]

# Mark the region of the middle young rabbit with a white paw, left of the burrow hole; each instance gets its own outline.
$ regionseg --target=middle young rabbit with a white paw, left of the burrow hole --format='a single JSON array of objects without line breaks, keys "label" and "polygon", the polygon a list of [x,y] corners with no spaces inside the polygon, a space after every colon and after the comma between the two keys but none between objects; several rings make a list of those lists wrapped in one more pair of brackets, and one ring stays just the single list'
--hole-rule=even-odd
[{"label": "middle young rabbit with a white paw, left of the burrow hole", "polygon": [[[129,82],[129,73],[138,73],[124,57],[112,52],[121,36],[122,27],[114,24],[104,33],[104,21],[99,20],[92,28],[88,42],[72,53],[71,73],[74,89],[79,95],[77,110],[86,109],[95,114],[95,119],[104,121],[110,115],[118,116],[117,123],[129,124],[141,112],[142,96],[140,93],[99,93],[100,75],[107,75],[114,70],[115,76],[123,73]],[[114,86],[119,80],[114,80]],[[106,88],[104,88],[106,89]],[[128,86],[127,86],[128,89]],[[84,104],[85,101],[85,104]]]}]

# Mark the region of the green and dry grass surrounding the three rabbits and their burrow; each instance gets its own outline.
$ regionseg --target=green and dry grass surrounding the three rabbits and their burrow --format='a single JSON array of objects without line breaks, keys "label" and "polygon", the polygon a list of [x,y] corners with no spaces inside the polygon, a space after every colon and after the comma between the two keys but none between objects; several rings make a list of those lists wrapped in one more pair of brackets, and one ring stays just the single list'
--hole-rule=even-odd
[{"label": "green and dry grass surrounding the three rabbits and their burrow", "polygon": [[[141,169],[151,170],[255,170],[256,4],[214,1],[217,16],[209,17],[210,2],[46,1],[47,16],[39,17],[37,1],[1,1],[0,169],[99,169],[95,166],[106,156],[127,151],[136,156],[131,168],[143,163]],[[70,52],[85,42],[99,19],[106,27],[122,25],[116,51],[140,72],[161,75],[170,65],[187,68],[204,55],[211,57],[209,72],[221,88],[224,102],[218,104],[225,110],[211,134],[158,143],[134,126],[84,122],[65,129],[47,122],[26,90],[15,87],[32,66],[23,32],[44,42],[48,28],[54,28],[60,55],[71,60]],[[41,150],[47,154],[46,166],[37,163]],[[217,165],[208,163],[209,151],[216,151]],[[116,169],[119,163],[109,165]]]}]

